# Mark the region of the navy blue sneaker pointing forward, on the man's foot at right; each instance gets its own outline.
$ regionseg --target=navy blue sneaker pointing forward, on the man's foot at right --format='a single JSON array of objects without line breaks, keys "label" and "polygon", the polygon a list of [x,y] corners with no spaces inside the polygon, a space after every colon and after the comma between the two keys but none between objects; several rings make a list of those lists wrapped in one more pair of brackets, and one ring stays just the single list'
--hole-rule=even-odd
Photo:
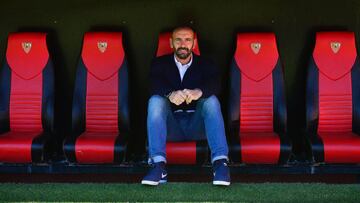
[{"label": "navy blue sneaker pointing forward, on the man's foot at right", "polygon": [[216,160],[213,163],[213,185],[230,185],[230,171],[226,159]]}]

